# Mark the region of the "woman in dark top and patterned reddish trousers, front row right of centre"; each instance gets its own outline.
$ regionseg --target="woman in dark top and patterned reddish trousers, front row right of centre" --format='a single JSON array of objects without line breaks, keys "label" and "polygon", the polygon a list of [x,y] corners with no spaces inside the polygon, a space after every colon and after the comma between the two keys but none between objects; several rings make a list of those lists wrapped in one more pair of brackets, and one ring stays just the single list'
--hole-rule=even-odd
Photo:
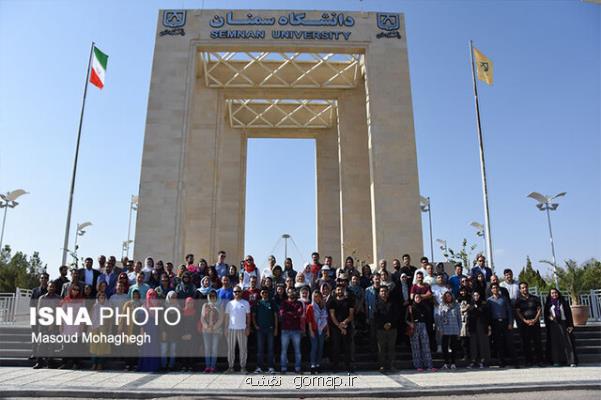
[{"label": "woman in dark top and patterned reddish trousers, front row right of centre", "polygon": [[413,296],[413,304],[409,306],[407,313],[407,325],[410,330],[413,330],[411,335],[413,366],[418,372],[423,372],[425,369],[436,372],[436,368],[432,367],[432,353],[428,338],[428,326],[432,325],[432,313],[420,294]]}]

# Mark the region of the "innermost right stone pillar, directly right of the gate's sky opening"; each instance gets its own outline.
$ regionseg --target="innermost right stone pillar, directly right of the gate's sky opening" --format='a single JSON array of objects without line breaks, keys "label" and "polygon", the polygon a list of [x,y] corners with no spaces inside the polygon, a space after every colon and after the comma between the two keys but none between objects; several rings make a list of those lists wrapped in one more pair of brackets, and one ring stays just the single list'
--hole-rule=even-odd
[{"label": "innermost right stone pillar, directly right of the gate's sky opening", "polygon": [[340,254],[340,179],[338,130],[318,130],[315,135],[317,173],[317,251],[321,258]]}]

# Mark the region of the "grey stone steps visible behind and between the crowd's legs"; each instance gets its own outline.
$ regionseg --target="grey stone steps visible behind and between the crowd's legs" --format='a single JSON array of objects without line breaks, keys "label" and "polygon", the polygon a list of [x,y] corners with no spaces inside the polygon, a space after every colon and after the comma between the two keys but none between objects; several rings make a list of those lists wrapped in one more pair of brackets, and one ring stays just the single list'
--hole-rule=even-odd
[{"label": "grey stone steps visible behind and between the crowd's legs", "polygon": [[[545,333],[546,330],[542,329],[543,338],[543,352],[545,351]],[[574,331],[576,337],[576,352],[580,364],[599,364],[601,363],[601,325],[587,325],[577,327]],[[277,339],[276,339],[277,341]],[[304,342],[304,340],[303,340]],[[514,342],[516,354],[521,355],[521,344],[517,330],[514,330]],[[304,343],[303,343],[304,344]],[[306,344],[304,344],[306,345]],[[276,346],[276,350],[279,346]],[[309,347],[306,347],[307,349]],[[395,366],[401,369],[413,368],[411,363],[411,352],[407,344],[399,344],[396,348]],[[248,366],[254,368],[255,366],[255,342],[249,340],[248,349]],[[303,355],[308,355],[308,351],[303,350]],[[326,348],[326,354],[327,348]],[[0,326],[0,366],[31,366],[33,362],[29,359],[31,355],[31,329],[30,327],[15,327],[15,326]],[[202,350],[199,354],[199,365],[202,364]],[[308,369],[307,359],[303,360],[304,369]],[[442,355],[440,353],[432,354],[434,366],[440,366],[443,363]],[[294,356],[290,351],[288,360],[292,363]],[[519,357],[519,360],[523,363],[523,357]],[[86,365],[86,363],[84,363]],[[279,358],[276,356],[276,366],[279,365]],[[355,343],[355,362],[353,363],[356,370],[377,370],[377,354],[375,347],[372,348],[368,338],[365,336],[357,336]],[[219,359],[219,368],[226,368],[225,359]],[[465,367],[466,362],[457,362],[458,367]],[[122,363],[120,361],[111,361],[108,363],[109,368],[121,368]],[[327,367],[326,367],[327,368]],[[290,365],[289,370],[293,370]]]}]

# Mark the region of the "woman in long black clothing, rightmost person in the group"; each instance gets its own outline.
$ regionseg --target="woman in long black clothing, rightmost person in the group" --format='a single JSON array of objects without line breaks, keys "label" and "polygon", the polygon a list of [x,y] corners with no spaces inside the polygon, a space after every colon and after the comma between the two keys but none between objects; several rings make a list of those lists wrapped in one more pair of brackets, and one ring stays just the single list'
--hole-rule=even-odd
[{"label": "woman in long black clothing, rightmost person in the group", "polygon": [[576,346],[574,345],[574,322],[572,310],[561,296],[559,290],[549,291],[545,303],[545,325],[547,326],[547,341],[551,344],[551,360],[554,367],[567,363],[575,367],[577,363]]}]

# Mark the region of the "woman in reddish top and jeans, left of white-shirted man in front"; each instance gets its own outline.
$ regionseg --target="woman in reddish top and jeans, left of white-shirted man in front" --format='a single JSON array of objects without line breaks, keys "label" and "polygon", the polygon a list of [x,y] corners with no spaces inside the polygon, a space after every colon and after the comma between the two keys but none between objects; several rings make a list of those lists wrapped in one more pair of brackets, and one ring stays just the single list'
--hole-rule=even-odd
[{"label": "woman in reddish top and jeans, left of white-shirted man in front", "polygon": [[207,295],[200,313],[200,325],[205,350],[205,373],[217,371],[219,338],[223,334],[223,308],[217,301],[217,292],[212,289]]}]

